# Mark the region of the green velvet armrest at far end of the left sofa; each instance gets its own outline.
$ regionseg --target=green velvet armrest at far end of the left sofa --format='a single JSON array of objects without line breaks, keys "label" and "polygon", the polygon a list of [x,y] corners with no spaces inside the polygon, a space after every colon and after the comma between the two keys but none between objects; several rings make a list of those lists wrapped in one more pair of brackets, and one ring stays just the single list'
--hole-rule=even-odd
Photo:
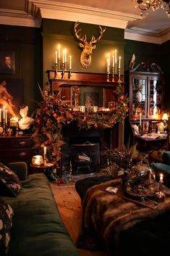
[{"label": "green velvet armrest at far end of the left sofa", "polygon": [[17,174],[20,181],[25,181],[27,179],[27,163],[26,162],[10,162],[9,168],[11,168],[14,173]]}]

